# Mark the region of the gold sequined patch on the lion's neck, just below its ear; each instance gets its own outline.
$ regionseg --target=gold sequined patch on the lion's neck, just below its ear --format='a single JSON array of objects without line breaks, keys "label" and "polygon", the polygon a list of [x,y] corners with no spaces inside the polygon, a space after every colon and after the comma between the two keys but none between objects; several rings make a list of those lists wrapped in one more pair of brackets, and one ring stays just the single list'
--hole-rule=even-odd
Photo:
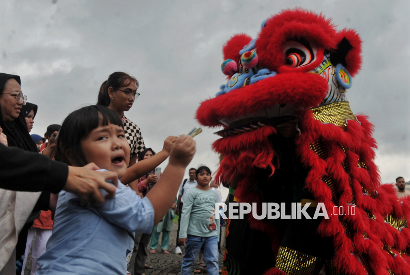
[{"label": "gold sequined patch on the lion's neck, just below its ear", "polygon": [[350,110],[349,101],[335,102],[311,109],[313,117],[322,123],[331,123],[338,127],[347,126],[346,120],[357,121],[356,116]]}]

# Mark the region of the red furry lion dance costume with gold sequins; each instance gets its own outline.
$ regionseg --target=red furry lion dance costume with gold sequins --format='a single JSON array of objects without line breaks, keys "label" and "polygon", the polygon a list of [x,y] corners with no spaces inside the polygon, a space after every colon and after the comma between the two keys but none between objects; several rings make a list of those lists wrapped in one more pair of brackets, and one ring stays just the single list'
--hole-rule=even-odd
[{"label": "red furry lion dance costume with gold sequins", "polygon": [[[216,178],[240,175],[231,202],[256,203],[259,214],[263,202],[310,202],[311,214],[324,203],[329,214],[229,220],[223,274],[410,274],[410,201],[380,184],[373,126],[346,97],[361,43],[354,30],[294,9],[265,20],[257,39],[239,34],[223,47],[228,83],[197,119],[224,127],[213,148],[224,156]],[[289,121],[294,137],[278,132]]]}]

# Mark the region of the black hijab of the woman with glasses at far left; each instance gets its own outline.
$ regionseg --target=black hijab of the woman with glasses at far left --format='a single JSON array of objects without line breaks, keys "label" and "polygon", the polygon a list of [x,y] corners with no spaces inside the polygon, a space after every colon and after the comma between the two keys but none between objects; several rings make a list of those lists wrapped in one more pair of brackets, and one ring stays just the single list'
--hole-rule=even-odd
[{"label": "black hijab of the woman with glasses at far left", "polygon": [[[0,73],[1,92],[3,92],[4,85],[9,79],[15,79],[18,82],[18,84],[21,85],[19,76]],[[2,94],[1,96],[5,95]],[[7,143],[9,147],[13,146],[21,148],[25,151],[37,152],[36,143],[34,143],[33,139],[30,137],[25,115],[23,114],[23,112],[20,112],[18,118],[16,118],[12,122],[6,122],[3,119],[3,113],[1,111],[0,104],[0,127],[1,129],[3,129],[3,134],[7,136]]]}]

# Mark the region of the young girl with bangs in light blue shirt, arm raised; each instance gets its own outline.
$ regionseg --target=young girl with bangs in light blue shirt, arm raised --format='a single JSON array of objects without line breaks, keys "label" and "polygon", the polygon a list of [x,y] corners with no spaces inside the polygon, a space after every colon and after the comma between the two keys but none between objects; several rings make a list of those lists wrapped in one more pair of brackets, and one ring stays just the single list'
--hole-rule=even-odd
[{"label": "young girl with bangs in light blue shirt, arm raised", "polygon": [[194,153],[192,137],[168,137],[163,151],[127,169],[130,148],[121,118],[104,106],[72,112],[58,135],[57,160],[73,166],[94,163],[104,171],[117,172],[118,178],[126,182],[151,171],[167,155],[169,163],[143,199],[120,181],[115,198],[105,200],[100,207],[90,202],[83,207],[81,198],[61,191],[53,234],[47,251],[37,261],[36,274],[126,274],[126,257],[132,250],[134,233],[151,233],[161,221],[174,201],[170,194],[177,192]]}]

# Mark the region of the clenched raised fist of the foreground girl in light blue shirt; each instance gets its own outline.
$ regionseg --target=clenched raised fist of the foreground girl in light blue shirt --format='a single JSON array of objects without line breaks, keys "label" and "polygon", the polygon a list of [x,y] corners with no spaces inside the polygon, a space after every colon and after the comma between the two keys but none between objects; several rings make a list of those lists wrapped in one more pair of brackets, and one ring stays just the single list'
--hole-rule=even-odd
[{"label": "clenched raised fist of the foreground girl in light blue shirt", "polygon": [[181,165],[184,169],[191,162],[196,151],[196,142],[192,137],[179,136],[169,155],[169,164]]}]

